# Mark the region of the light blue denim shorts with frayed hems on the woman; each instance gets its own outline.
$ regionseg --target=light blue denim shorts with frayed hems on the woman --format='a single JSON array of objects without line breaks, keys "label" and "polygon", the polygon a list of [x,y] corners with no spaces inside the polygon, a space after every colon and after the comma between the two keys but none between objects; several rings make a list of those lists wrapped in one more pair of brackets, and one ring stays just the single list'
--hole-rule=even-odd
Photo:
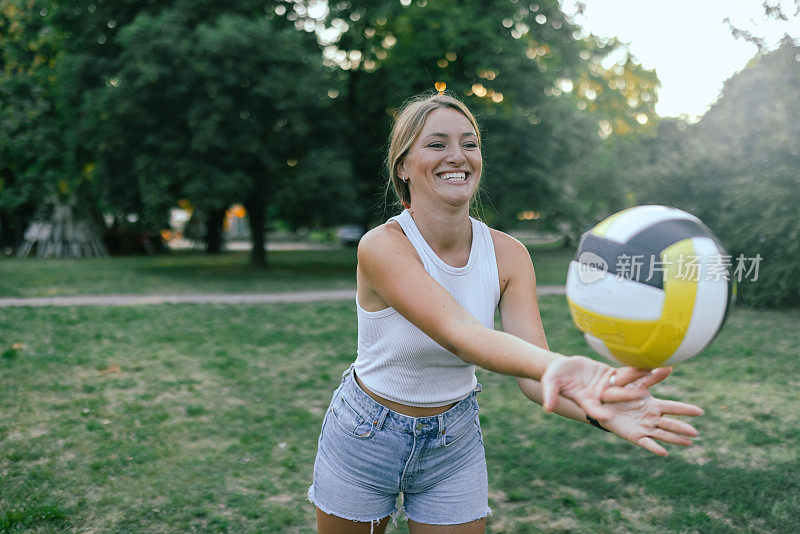
[{"label": "light blue denim shorts with frayed hems on the woman", "polygon": [[397,514],[455,525],[491,514],[475,398],[446,412],[410,417],[368,396],[348,369],[322,422],[308,499],[327,514],[375,522]]}]

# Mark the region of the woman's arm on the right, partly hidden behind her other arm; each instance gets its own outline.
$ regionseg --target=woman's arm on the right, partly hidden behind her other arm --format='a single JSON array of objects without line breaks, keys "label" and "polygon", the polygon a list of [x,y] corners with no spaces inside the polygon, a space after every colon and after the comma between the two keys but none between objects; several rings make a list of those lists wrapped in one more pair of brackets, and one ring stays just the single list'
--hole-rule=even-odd
[{"label": "woman's arm on the right, partly hidden behind her other arm", "polygon": [[[536,296],[536,275],[527,249],[502,232],[492,230],[492,237],[500,275],[499,310],[503,331],[549,350]],[[618,370],[616,383],[647,389],[664,380],[671,371],[671,368],[660,368],[647,373],[625,367]],[[526,397],[538,404],[543,403],[539,381],[518,378],[517,383]],[[657,399],[649,394],[633,401],[604,404],[604,407],[611,414],[603,420],[604,428],[661,456],[666,456],[667,451],[655,439],[688,446],[692,444],[689,438],[697,436],[697,430],[690,424],[668,416],[698,416],[703,413],[698,406]],[[562,396],[559,396],[553,411],[576,421],[588,422],[586,412]]]}]

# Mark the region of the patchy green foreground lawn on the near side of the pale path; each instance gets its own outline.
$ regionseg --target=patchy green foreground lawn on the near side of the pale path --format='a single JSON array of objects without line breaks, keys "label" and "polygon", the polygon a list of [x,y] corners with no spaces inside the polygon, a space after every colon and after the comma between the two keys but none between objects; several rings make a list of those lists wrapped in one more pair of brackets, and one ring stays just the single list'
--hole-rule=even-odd
[{"label": "patchy green foreground lawn on the near side of the pale path", "polygon": [[[586,350],[563,297],[541,308],[554,350]],[[798,324],[736,309],[657,387],[706,409],[668,458],[480,372],[488,531],[800,531]],[[350,302],[0,309],[0,531],[313,532],[316,440],[355,340]]]}]

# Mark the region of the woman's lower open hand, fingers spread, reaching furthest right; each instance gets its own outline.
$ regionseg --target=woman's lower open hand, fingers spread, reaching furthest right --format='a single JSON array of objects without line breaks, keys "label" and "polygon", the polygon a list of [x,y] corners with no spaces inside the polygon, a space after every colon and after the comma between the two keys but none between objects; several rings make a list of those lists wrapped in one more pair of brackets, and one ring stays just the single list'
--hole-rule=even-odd
[{"label": "woman's lower open hand, fingers spread, reaching furthest right", "polygon": [[[617,385],[626,386],[626,389],[646,391],[650,386],[664,380],[671,372],[671,367],[660,367],[634,380],[620,376]],[[692,425],[669,416],[703,415],[703,409],[699,406],[658,399],[649,393],[634,400],[606,404],[604,408],[611,412],[611,417],[601,422],[604,428],[659,456],[667,456],[668,453],[655,440],[688,447],[692,444],[690,438],[698,435]]]}]

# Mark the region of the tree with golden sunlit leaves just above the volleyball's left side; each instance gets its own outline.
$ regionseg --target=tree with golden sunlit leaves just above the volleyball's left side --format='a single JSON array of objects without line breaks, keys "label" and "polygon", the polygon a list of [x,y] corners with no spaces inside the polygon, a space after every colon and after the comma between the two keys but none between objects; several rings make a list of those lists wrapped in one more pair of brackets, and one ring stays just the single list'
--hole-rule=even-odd
[{"label": "tree with golden sunlit leaves just above the volleyball's left side", "polygon": [[[604,67],[606,56],[621,47],[616,40],[589,36],[580,44],[585,62],[547,89],[567,109],[549,121],[554,127],[547,135],[547,153],[561,152],[549,172],[561,194],[553,195],[539,227],[560,230],[568,245],[599,220],[634,203],[641,147],[658,124],[655,71],[644,69],[629,53],[622,62]],[[582,113],[568,113],[575,108]]]}]

